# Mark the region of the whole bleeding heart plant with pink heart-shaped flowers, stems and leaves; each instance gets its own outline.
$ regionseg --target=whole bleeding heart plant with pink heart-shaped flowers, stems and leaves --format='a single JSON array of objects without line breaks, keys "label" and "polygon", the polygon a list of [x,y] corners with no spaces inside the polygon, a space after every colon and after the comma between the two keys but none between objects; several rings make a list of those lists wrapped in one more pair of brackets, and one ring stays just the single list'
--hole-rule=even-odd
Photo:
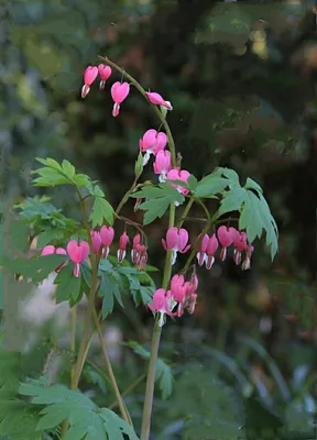
[{"label": "whole bleeding heart plant with pink heart-shaped flowers, stems and leaves", "polygon": [[[87,435],[89,439],[119,440],[123,436],[122,432],[125,432],[130,439],[138,439],[100,331],[100,322],[112,312],[114,299],[123,307],[121,299],[122,277],[129,280],[130,290],[128,290],[135,305],[142,304],[149,312],[152,311],[154,315],[141,427],[141,440],[149,440],[157,352],[164,324],[168,321],[168,324],[173,326],[175,319],[184,317],[186,312],[189,315],[195,312],[196,302],[199,301],[199,272],[204,270],[204,265],[207,270],[212,271],[216,262],[218,265],[226,264],[228,258],[233,258],[233,262],[242,270],[249,270],[251,256],[254,253],[252,243],[256,238],[262,237],[263,231],[266,232],[266,244],[271,248],[273,258],[277,251],[277,227],[261,187],[251,178],[248,178],[245,184],[241,185],[234,170],[218,167],[211,170],[209,175],[198,179],[189,170],[183,169],[182,160],[177,155],[175,142],[166,120],[166,109],[173,110],[171,102],[163,99],[157,92],[145,91],[124,69],[110,59],[105,57],[100,57],[100,59],[102,64],[99,64],[98,67],[89,66],[85,70],[81,88],[83,98],[87,97],[90,91],[89,99],[94,99],[94,91],[90,90],[90,87],[98,74],[100,77],[99,89],[105,92],[105,90],[107,91],[108,79],[117,73],[118,80],[108,91],[114,102],[113,117],[119,117],[120,106],[129,94],[134,91],[140,94],[140,98],[144,100],[145,105],[150,105],[151,111],[154,110],[153,116],[158,117],[157,127],[154,125],[154,129],[149,129],[145,133],[140,130],[140,144],[139,146],[135,145],[138,158],[134,166],[134,182],[114,209],[96,182],[92,182],[86,175],[77,174],[75,167],[68,161],[58,164],[53,158],[37,160],[43,166],[33,172],[37,176],[33,179],[33,185],[43,187],[73,186],[81,209],[81,222],[66,219],[59,210],[52,208],[51,205],[51,211],[47,209],[45,211],[48,213],[46,213],[44,226],[40,216],[32,217],[30,215],[28,202],[20,205],[21,218],[26,218],[28,224],[32,229],[31,235],[37,237],[37,244],[42,248],[35,257],[24,260],[21,265],[15,260],[8,260],[9,263],[7,264],[15,274],[29,276],[35,283],[42,282],[50,272],[58,272],[55,278],[56,301],[68,301],[72,310],[75,309],[83,295],[86,295],[88,299],[78,350],[74,344],[72,345],[75,363],[70,374],[72,391],[67,393],[75,393],[78,388],[83,367],[89,352],[92,327],[97,330],[99,337],[108,377],[123,420],[107,408],[94,409],[95,416],[100,418],[99,435],[91,437],[92,435],[88,435],[84,427],[80,431],[80,439],[86,438]],[[125,81],[122,80],[123,78]],[[127,99],[127,105],[122,111],[125,110],[129,110],[129,99]],[[177,111],[177,109],[174,111]],[[153,124],[155,124],[154,121]],[[143,167],[150,163],[152,157],[153,182],[141,183],[140,177]],[[158,183],[154,175],[160,176]],[[136,199],[135,209],[144,211],[143,224],[121,216],[122,207],[131,198]],[[214,210],[209,205],[210,198],[212,198],[212,206],[215,206],[215,201],[217,202],[217,208]],[[45,201],[42,204],[44,207]],[[193,235],[188,227],[189,223],[187,226],[188,215],[194,204],[205,213],[204,219],[196,220],[197,224],[203,224],[198,238]],[[34,208],[32,209],[34,210]],[[232,212],[236,212],[234,217],[232,217]],[[146,272],[149,267],[146,265],[147,258],[151,262],[151,249],[149,250],[145,227],[155,219],[161,219],[165,213],[168,213],[166,234],[164,238],[162,237],[162,255],[165,257],[165,264],[162,280],[156,288]],[[58,224],[62,224],[58,234],[56,219]],[[51,235],[47,235],[47,221],[51,222]],[[193,218],[190,218],[190,221],[193,221]],[[186,228],[183,227],[184,223],[186,223]],[[51,239],[47,241],[48,237]],[[132,240],[132,246],[130,240]],[[127,260],[130,258],[127,257],[129,248],[131,264],[127,263]],[[65,249],[67,249],[67,253]],[[182,254],[186,254],[185,261],[185,256]],[[195,264],[196,256],[197,267]],[[117,287],[113,287],[112,292],[109,286],[113,285]],[[97,297],[102,298],[100,312],[96,309]],[[76,327],[73,326],[72,340],[75,340],[75,329]],[[29,389],[28,392],[28,387],[24,388],[25,395],[28,393],[33,396],[36,394],[34,389],[33,394],[32,391]],[[42,402],[41,398],[37,400]],[[73,400],[69,400],[70,404],[73,405]],[[70,407],[66,404],[65,410],[61,409],[58,399],[52,402],[53,405],[55,405],[56,414],[61,414],[61,417],[56,416],[57,425],[55,426],[63,421],[61,438],[73,438],[72,432],[75,431],[76,426],[78,427],[78,417],[76,418],[73,415]],[[52,407],[47,408],[45,411],[52,409]],[[91,408],[87,409],[86,413],[92,411]],[[108,416],[106,417],[106,414],[109,417],[111,415],[112,424],[116,419],[116,430],[112,430],[112,432],[119,432],[119,437],[116,437],[116,439],[113,435],[111,437],[111,433],[109,433],[110,428],[107,431]],[[43,418],[45,417],[44,415]],[[77,438],[79,439],[79,437]]]}]

